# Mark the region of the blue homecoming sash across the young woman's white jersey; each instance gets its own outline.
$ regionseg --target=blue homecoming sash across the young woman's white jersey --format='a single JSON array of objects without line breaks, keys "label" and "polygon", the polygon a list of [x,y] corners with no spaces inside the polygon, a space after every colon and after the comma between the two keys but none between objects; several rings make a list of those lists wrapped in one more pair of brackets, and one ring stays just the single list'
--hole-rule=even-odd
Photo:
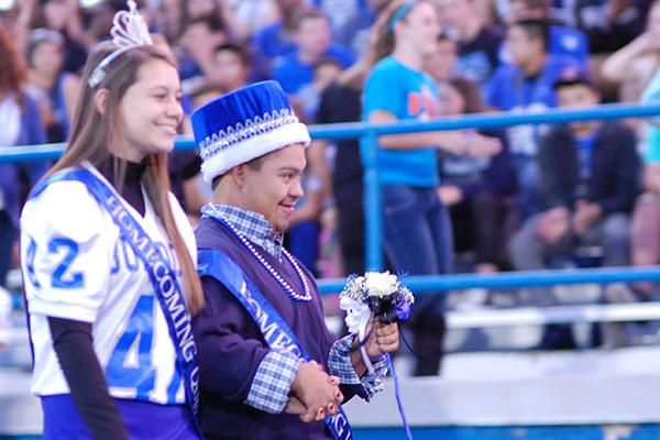
[{"label": "blue homecoming sash across the young woman's white jersey", "polygon": [[[197,346],[193,339],[190,315],[187,312],[186,301],[179,287],[176,273],[169,266],[169,262],[161,253],[148,234],[123,206],[117,191],[110,188],[89,169],[77,168],[54,174],[47,179],[40,182],[30,194],[30,198],[37,197],[50,184],[63,180],[75,180],[85,184],[89,193],[108,210],[108,213],[110,213],[110,217],[112,217],[112,220],[119,227],[119,230],[135,252],[135,255],[144,263],[144,267],[153,284],[156,298],[158,298],[158,302],[163,309],[163,315],[165,316],[165,321],[169,329],[169,336],[175,342],[177,365],[185,378],[184,389],[186,392],[186,400],[188,405],[190,405],[193,414],[197,415],[199,408]],[[177,320],[175,321],[172,310],[186,311],[183,316],[177,316]],[[193,419],[201,436],[197,418],[193,417]]]}]

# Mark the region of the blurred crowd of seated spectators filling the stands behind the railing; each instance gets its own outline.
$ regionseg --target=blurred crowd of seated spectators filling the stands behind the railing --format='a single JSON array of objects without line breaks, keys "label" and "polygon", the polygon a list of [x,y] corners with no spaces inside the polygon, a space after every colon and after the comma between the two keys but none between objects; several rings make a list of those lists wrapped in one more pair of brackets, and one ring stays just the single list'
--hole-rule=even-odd
[{"label": "blurred crowd of seated spectators filling the stands behind the railing", "polygon": [[[652,0],[429,2],[441,34],[425,69],[438,84],[441,117],[635,102],[660,65],[660,3]],[[377,57],[369,50],[372,26],[388,3],[138,1],[158,42],[178,59],[186,114],[274,78],[307,123],[361,120],[364,81]],[[20,0],[0,7],[0,146],[65,142],[87,52],[108,35],[125,2]],[[190,133],[184,123],[182,134]],[[461,270],[565,266],[578,264],[584,249],[600,265],[660,263],[660,132],[652,125],[521,125],[479,135],[499,139],[499,153],[438,152],[438,196],[449,208]],[[319,276],[363,272],[358,142],[317,141],[308,155],[290,249]],[[209,196],[198,178],[199,160],[193,153],[174,157],[174,189],[195,220]],[[16,264],[21,200],[44,166],[1,165],[0,285]],[[630,286],[636,299],[654,289],[650,283]]]}]

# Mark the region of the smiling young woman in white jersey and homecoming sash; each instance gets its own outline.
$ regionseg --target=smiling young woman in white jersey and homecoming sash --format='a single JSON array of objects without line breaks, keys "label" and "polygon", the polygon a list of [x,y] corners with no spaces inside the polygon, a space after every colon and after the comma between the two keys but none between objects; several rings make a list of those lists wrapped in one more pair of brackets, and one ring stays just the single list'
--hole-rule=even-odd
[{"label": "smiling young woman in white jersey and homecoming sash", "polygon": [[202,295],[167,177],[176,65],[153,44],[103,43],[82,80],[69,146],[21,217],[44,438],[197,439],[187,307]]}]

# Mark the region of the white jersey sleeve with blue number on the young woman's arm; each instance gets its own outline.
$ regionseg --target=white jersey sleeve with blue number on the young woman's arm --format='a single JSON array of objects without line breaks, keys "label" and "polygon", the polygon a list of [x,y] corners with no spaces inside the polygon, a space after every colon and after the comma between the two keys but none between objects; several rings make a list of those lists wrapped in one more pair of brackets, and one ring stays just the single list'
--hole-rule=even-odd
[{"label": "white jersey sleeve with blue number on the young woman's arm", "polygon": [[[47,220],[46,220],[47,219]],[[94,322],[108,292],[112,248],[102,212],[77,182],[48,185],[21,219],[21,262],[30,311]]]}]

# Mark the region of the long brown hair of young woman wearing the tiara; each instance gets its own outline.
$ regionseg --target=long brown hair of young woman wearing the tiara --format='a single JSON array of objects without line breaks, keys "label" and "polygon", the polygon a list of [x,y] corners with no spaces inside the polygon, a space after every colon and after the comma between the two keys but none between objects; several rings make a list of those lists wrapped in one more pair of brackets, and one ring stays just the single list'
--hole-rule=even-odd
[{"label": "long brown hair of young woman wearing the tiara", "polygon": [[[82,92],[78,98],[74,113],[68,147],[47,175],[76,166],[84,161],[88,161],[98,167],[113,157],[109,146],[120,148],[123,144],[121,142],[123,121],[120,114],[120,102],[129,87],[138,80],[140,67],[153,59],[164,61],[176,67],[176,62],[166,50],[155,45],[140,46],[114,59],[107,67],[108,72],[101,82],[94,88],[90,87],[88,79],[91,72],[114,48],[116,46],[111,43],[101,43],[88,57],[82,69]],[[100,89],[109,91],[106,103],[107,111],[103,114],[95,106],[95,95]],[[140,109],[135,109],[135,111],[140,111]],[[117,158],[114,161],[116,175],[113,177],[121,188],[127,163]],[[146,170],[142,177],[142,184],[178,257],[187,292],[188,307],[191,314],[196,314],[204,307],[204,294],[197,268],[178,231],[172,211],[166,153],[147,155]]]}]

